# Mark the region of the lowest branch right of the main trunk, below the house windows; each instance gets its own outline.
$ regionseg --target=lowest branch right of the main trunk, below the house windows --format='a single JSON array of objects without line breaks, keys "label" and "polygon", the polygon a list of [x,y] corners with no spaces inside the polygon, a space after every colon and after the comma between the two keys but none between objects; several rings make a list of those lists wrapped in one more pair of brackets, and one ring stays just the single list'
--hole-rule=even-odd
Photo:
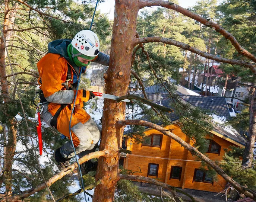
[{"label": "lowest branch right of the main trunk, below the house windows", "polygon": [[154,180],[152,178],[149,177],[143,177],[143,176],[136,176],[136,175],[124,175],[124,174],[120,174],[120,179],[125,179],[125,180],[136,180],[136,181],[140,181],[140,182],[147,182],[153,185],[157,185],[157,186],[161,186],[165,189],[168,189],[170,191],[176,191],[176,192],[180,192],[183,193],[184,195],[188,196],[193,202],[196,202],[195,199],[190,196],[189,194],[187,194],[186,192],[176,189],[176,187],[171,186],[171,185],[167,185],[165,183],[159,182],[157,180]]}]

